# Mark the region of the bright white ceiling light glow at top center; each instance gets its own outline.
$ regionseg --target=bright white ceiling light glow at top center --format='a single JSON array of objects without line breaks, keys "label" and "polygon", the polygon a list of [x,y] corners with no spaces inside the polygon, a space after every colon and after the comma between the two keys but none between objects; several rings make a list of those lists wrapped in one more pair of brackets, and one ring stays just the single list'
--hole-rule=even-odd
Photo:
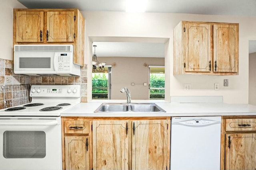
[{"label": "bright white ceiling light glow at top center", "polygon": [[148,0],[126,0],[126,12],[145,12]]}]

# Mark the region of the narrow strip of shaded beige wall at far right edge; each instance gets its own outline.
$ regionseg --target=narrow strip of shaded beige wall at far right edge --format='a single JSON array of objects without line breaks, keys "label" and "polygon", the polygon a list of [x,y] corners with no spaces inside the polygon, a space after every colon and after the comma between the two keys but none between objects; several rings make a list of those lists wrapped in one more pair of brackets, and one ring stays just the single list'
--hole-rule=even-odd
[{"label": "narrow strip of shaded beige wall at far right edge", "polygon": [[249,54],[249,104],[256,105],[256,53]]}]

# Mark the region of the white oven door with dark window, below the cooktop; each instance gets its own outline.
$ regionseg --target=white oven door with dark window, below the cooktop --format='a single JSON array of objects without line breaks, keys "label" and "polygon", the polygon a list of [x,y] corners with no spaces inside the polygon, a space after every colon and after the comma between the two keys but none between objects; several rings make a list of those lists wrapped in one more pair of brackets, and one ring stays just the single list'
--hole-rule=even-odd
[{"label": "white oven door with dark window, below the cooktop", "polygon": [[0,117],[0,169],[61,170],[60,117]]}]

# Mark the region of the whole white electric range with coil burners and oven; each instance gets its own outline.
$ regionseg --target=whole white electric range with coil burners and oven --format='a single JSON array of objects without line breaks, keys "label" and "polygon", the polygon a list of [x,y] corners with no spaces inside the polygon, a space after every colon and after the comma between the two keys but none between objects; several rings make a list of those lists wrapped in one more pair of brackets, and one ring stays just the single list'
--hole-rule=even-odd
[{"label": "whole white electric range with coil burners and oven", "polygon": [[0,169],[62,170],[60,113],[80,103],[80,85],[32,85],[30,97],[0,110]]}]

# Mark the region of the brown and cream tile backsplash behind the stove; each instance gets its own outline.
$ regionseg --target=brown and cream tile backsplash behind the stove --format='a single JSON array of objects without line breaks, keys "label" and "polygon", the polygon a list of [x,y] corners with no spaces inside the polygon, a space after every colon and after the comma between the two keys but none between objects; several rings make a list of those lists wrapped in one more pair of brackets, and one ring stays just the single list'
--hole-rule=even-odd
[{"label": "brown and cream tile backsplash behind the stove", "polygon": [[[15,100],[17,93],[19,96],[27,95],[24,89],[15,90],[12,93],[2,89],[3,86],[19,84],[80,84],[81,102],[87,102],[87,64],[81,67],[81,76],[26,76],[14,74],[13,62],[11,60],[0,59],[0,109],[10,107],[10,104],[5,102],[6,95],[8,95],[8,100],[11,100],[11,98]],[[11,106],[17,105],[19,105],[18,102],[12,103]]]}]

